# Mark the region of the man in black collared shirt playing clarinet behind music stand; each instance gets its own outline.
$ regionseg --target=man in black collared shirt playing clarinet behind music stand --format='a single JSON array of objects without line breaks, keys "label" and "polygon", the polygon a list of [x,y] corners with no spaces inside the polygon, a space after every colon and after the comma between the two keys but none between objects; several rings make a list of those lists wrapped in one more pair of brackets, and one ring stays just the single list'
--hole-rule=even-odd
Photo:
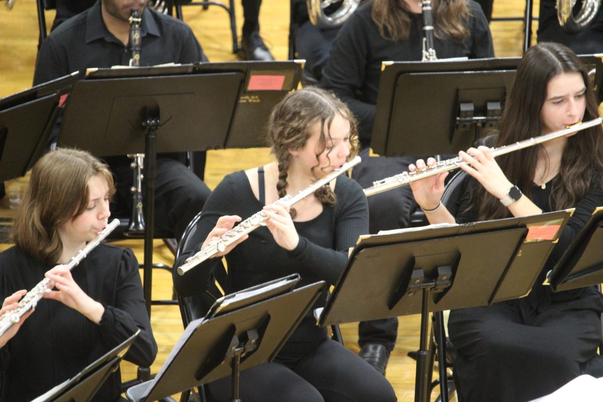
[{"label": "man in black collared shirt playing clarinet behind music stand", "polygon": [[[42,44],[36,62],[34,85],[74,71],[84,77],[87,68],[128,65],[129,18],[137,9],[142,16],[140,66],[207,61],[191,28],[184,22],[157,13],[147,0],[99,0],[90,10],[67,20]],[[93,111],[90,111],[93,113]],[[165,133],[169,135],[169,133]],[[155,226],[179,239],[186,225],[201,210],[209,189],[177,154],[157,157]],[[125,155],[107,157],[117,182],[114,212],[131,210],[132,171]]]}]

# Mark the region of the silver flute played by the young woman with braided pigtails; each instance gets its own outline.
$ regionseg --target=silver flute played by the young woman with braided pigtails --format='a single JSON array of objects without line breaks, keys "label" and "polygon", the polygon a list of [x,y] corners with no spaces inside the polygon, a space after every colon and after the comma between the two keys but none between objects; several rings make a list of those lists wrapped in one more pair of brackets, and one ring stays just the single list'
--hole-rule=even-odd
[{"label": "silver flute played by the young woman with braided pigtails", "polygon": [[[313,194],[325,184],[329,184],[329,181],[333,180],[340,174],[348,171],[353,166],[358,165],[360,161],[360,157],[356,156],[354,159],[350,160],[350,162],[344,163],[341,168],[335,169],[325,177],[318,179],[305,189],[300,190],[300,192],[297,194],[285,195],[284,197],[277,199],[275,204],[280,203],[286,206],[292,206],[298,201],[301,201],[301,199],[306,198],[306,196]],[[184,275],[190,269],[195,268],[195,266],[207,259],[210,259],[212,256],[215,256],[215,254],[223,252],[227,247],[229,247],[229,245],[241,239],[241,237],[245,236],[245,234],[256,230],[260,226],[265,226],[267,219],[268,217],[264,214],[264,211],[254,213],[249,218],[245,219],[240,224],[224,233],[218,240],[210,242],[206,248],[194,254],[194,256],[188,257],[188,259],[186,259],[185,262],[177,268],[178,274]]]}]

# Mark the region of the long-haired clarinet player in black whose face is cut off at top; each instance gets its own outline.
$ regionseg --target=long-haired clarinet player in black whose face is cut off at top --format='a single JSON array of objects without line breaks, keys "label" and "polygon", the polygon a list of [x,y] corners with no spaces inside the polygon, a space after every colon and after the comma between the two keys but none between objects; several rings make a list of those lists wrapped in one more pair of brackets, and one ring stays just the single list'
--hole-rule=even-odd
[{"label": "long-haired clarinet player in black whose face is cut off at top", "polygon": [[[373,0],[361,5],[339,30],[321,86],[347,103],[359,120],[362,163],[352,171],[362,187],[408,170],[412,157],[369,157],[382,61],[420,61],[423,19],[415,0]],[[432,1],[438,58],[494,57],[488,22],[472,0]],[[409,93],[408,96],[412,96]],[[429,107],[429,105],[425,105]],[[428,140],[429,133],[425,133]],[[407,227],[416,204],[408,186],[368,199],[370,233]],[[361,356],[384,372],[396,343],[396,318],[359,325]]]}]

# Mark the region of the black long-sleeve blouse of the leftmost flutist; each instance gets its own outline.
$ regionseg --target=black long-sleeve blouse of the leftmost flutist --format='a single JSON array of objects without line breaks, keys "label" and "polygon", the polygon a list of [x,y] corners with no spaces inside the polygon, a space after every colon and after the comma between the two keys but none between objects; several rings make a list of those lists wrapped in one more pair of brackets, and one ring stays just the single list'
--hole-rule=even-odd
[{"label": "black long-sleeve blouse of the leftmost flutist", "polygon": [[[0,300],[30,291],[52,268],[18,247],[0,253]],[[157,355],[138,262],[129,249],[98,245],[72,269],[75,282],[105,311],[97,325],[59,301],[43,299],[17,334],[0,348],[0,401],[30,401],[73,377],[94,360],[140,334],[125,360],[150,366]],[[115,401],[121,394],[119,370],[112,373],[93,401]]]}]

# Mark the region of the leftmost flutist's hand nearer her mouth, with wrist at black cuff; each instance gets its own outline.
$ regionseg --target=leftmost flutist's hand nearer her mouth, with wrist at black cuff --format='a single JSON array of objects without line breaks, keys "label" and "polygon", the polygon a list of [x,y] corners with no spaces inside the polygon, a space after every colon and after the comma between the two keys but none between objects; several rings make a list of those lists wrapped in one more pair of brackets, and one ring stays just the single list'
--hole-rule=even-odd
[{"label": "leftmost flutist's hand nearer her mouth, with wrist at black cuff", "polygon": [[65,306],[82,313],[87,319],[98,324],[103,318],[103,304],[93,300],[86,294],[71,276],[66,265],[57,265],[46,272],[45,277],[54,282],[56,291],[50,291],[45,298],[60,301]]}]

